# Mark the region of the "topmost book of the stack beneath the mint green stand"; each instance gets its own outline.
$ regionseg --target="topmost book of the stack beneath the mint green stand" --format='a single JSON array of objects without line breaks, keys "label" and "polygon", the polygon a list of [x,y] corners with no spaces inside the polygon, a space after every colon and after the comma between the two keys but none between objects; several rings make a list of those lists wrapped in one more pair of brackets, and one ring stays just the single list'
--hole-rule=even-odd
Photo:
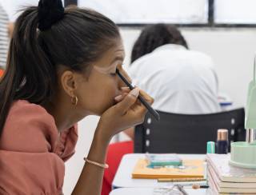
[{"label": "topmost book of the stack beneath the mint green stand", "polygon": [[230,165],[230,154],[209,153],[206,156],[206,161],[221,181],[256,183],[256,169]]}]

